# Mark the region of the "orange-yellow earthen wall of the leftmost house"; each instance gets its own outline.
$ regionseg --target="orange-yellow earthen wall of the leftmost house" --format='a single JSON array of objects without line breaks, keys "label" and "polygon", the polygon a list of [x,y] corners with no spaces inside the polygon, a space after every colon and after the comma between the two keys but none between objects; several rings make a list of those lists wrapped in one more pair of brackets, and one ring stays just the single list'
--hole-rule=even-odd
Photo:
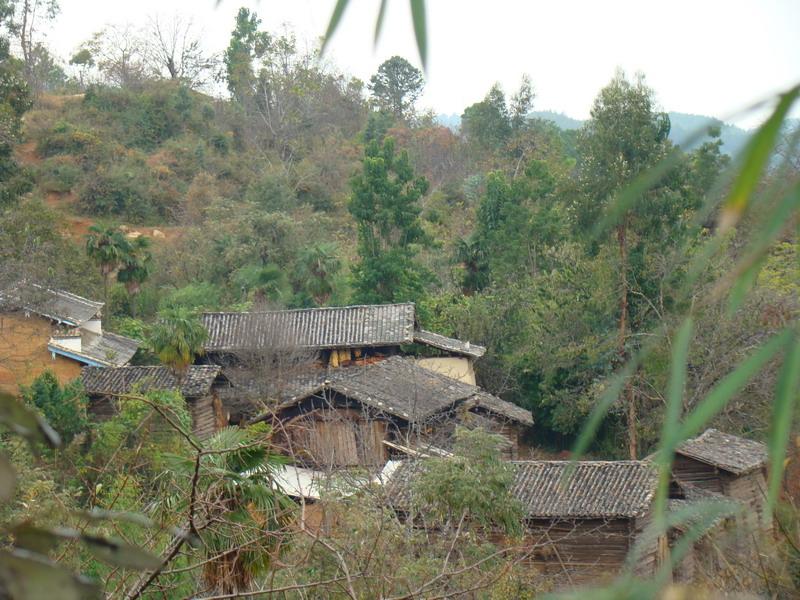
[{"label": "orange-yellow earthen wall of the leftmost house", "polygon": [[46,370],[61,383],[81,374],[81,364],[56,356],[47,349],[53,326],[36,315],[0,313],[0,391],[16,394],[20,385],[30,384]]}]

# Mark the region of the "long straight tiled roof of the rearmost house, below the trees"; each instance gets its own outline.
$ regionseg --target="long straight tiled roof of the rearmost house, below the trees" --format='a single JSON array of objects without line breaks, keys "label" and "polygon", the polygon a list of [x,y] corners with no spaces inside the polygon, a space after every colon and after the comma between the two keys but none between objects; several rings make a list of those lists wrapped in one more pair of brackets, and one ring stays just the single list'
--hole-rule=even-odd
[{"label": "long straight tiled roof of the rearmost house, below the trees", "polygon": [[413,341],[414,305],[205,313],[203,324],[208,330],[208,351],[393,346]]}]

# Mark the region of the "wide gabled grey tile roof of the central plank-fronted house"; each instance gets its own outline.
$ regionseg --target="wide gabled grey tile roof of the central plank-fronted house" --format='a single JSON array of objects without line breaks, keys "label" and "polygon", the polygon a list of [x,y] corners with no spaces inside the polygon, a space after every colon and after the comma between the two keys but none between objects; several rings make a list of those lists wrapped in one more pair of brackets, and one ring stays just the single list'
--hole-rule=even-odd
[{"label": "wide gabled grey tile roof of the central plank-fronted house", "polygon": [[288,408],[319,391],[323,386],[363,405],[410,422],[419,422],[469,400],[476,406],[500,416],[533,423],[530,412],[492,396],[481,388],[463,383],[419,366],[412,357],[393,356],[366,366],[334,369],[327,373],[323,385],[305,395],[297,393],[277,410]]}]

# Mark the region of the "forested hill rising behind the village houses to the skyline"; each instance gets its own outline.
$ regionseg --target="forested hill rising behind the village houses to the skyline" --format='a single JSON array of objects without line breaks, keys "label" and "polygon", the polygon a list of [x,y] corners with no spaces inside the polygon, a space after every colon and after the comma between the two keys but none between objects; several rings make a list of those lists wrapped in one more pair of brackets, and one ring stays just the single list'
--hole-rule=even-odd
[{"label": "forested hill rising behind the village houses to the skyline", "polygon": [[[254,29],[275,43],[258,45]],[[598,90],[580,136],[531,118],[542,113],[527,79],[487,90],[453,131],[418,106],[424,78],[405,59],[364,84],[244,9],[219,65],[224,98],[202,92],[202,69],[196,78],[161,64],[132,69],[119,48],[98,38],[85,50],[102,50],[102,62],[48,72],[21,106],[4,159],[0,283],[23,272],[87,297],[107,291],[109,329],[145,340],[176,308],[414,301],[424,327],[488,348],[479,383],[531,410],[537,443],[553,449],[572,443],[604,378],[648,332],[674,325],[683,250],[707,234],[696,211],[706,207],[713,226],[714,182],[729,162],[714,137],[684,149],[624,230],[598,238],[608,202],[670,149],[642,81],[619,75]],[[680,124],[672,119],[672,135]],[[92,249],[120,233],[128,242],[109,270]],[[726,272],[737,243],[709,261],[709,277]],[[765,327],[794,318],[796,255],[791,236],[774,249],[743,315],[698,309],[715,359],[691,371],[691,389],[713,384]],[[662,350],[629,390],[638,416],[612,410],[594,451],[626,455],[629,436],[651,447]],[[728,429],[766,429],[764,389],[743,391],[750,410],[720,417]]]}]

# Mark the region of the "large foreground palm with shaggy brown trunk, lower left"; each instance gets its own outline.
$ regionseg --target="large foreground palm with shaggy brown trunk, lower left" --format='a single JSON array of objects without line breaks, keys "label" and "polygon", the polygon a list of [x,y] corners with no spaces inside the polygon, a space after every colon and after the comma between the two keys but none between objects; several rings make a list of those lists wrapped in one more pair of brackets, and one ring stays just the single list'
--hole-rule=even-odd
[{"label": "large foreground palm with shaggy brown trunk, lower left", "polygon": [[[263,424],[228,427],[204,443],[195,484],[208,557],[204,593],[249,591],[253,579],[268,571],[294,516],[294,503],[274,485],[275,470],[285,459],[269,451],[268,435]],[[194,460],[181,460],[175,470],[193,479]]]}]

